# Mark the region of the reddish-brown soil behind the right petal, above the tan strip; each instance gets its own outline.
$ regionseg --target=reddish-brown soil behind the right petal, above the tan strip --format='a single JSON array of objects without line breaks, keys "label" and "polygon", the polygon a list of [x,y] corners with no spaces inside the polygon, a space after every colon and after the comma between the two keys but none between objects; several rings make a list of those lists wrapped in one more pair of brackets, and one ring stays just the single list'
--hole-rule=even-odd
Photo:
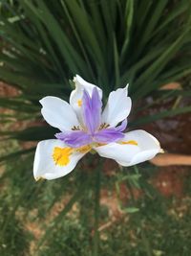
[{"label": "reddish-brown soil behind the right petal, above the tan strip", "polygon": [[[146,104],[153,99],[146,99]],[[170,110],[176,104],[176,100],[168,100],[152,105],[140,113],[140,116],[159,114],[164,110]],[[191,101],[180,100],[179,106],[191,105]],[[135,117],[134,117],[135,118]],[[191,114],[184,113],[173,117],[161,119],[159,121],[142,126],[159,139],[162,149],[169,152],[191,154]]]}]

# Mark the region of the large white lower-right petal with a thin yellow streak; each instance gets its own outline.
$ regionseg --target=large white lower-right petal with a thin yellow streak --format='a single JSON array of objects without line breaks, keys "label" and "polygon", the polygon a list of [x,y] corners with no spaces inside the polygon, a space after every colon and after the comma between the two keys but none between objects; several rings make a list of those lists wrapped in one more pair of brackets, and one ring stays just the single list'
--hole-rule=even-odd
[{"label": "large white lower-right petal with a thin yellow streak", "polygon": [[[132,166],[150,160],[161,151],[159,141],[141,129],[127,132],[122,142],[127,144],[111,143],[95,150],[101,156],[112,158],[122,166]],[[133,142],[138,145],[133,145]]]}]

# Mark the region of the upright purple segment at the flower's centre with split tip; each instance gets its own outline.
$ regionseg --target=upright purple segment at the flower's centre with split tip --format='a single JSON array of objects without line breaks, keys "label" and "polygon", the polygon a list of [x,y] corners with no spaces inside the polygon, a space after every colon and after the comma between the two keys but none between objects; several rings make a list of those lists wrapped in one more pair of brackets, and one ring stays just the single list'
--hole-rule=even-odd
[{"label": "upright purple segment at the flower's centre with split tip", "polygon": [[82,103],[84,125],[88,129],[88,132],[94,135],[96,129],[100,126],[102,107],[96,87],[93,89],[92,98],[89,93],[84,90]]}]

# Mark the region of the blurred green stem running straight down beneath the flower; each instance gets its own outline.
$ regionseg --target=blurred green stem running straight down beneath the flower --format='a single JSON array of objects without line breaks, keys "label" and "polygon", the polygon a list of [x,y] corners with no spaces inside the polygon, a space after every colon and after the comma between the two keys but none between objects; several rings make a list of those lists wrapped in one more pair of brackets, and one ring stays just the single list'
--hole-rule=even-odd
[{"label": "blurred green stem running straight down beneath the flower", "polygon": [[99,247],[99,231],[98,231],[98,220],[99,220],[99,210],[100,210],[100,166],[96,169],[96,184],[95,184],[95,235],[93,238],[93,255],[98,255]]}]

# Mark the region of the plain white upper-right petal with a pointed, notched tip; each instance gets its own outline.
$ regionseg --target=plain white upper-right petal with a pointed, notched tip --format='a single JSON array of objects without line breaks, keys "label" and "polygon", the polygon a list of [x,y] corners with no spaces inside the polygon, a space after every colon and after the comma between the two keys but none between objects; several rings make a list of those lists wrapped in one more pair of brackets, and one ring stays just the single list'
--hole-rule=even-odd
[{"label": "plain white upper-right petal with a pointed, notched tip", "polygon": [[127,97],[127,88],[128,85],[110,93],[107,105],[102,113],[102,123],[116,127],[119,122],[127,118],[132,105],[130,97]]}]

